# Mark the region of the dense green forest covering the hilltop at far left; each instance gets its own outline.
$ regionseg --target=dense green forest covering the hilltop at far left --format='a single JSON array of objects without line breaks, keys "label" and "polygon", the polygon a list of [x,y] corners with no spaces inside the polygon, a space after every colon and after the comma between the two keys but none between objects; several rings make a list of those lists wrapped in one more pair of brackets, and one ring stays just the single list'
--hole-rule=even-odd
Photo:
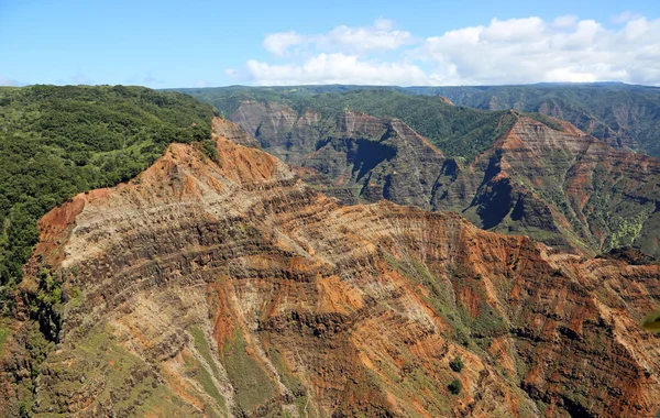
[{"label": "dense green forest covering the hilltop at far left", "polygon": [[43,215],[130,179],[172,142],[210,141],[213,112],[143,87],[0,88],[0,306],[8,309]]}]

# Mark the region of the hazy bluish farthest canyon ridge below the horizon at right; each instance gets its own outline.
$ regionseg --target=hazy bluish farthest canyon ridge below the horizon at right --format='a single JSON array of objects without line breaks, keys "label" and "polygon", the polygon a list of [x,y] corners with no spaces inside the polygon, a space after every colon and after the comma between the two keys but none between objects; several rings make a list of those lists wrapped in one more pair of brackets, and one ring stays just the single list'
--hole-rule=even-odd
[{"label": "hazy bluish farthest canyon ridge below the horizon at right", "polygon": [[660,157],[660,89],[619,82],[531,86],[414,87],[459,106],[540,112],[573,123],[616,147]]}]

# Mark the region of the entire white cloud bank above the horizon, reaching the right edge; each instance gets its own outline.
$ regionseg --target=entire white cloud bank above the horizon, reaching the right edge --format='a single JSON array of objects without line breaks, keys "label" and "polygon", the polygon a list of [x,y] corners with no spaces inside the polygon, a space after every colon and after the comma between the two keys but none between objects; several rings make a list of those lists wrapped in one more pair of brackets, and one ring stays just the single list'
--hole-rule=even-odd
[{"label": "entire white cloud bank above the horizon, reaching the right edge", "polygon": [[231,74],[257,85],[660,85],[660,19],[625,12],[613,22],[574,15],[493,19],[427,38],[395,30],[386,19],[323,34],[282,32],[266,36],[263,46],[284,64],[251,59]]}]

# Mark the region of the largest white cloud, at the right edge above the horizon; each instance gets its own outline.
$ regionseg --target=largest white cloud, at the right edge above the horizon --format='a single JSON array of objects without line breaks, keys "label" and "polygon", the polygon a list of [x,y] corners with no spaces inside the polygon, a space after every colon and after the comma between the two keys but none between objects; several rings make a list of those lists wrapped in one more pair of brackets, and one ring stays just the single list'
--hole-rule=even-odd
[{"label": "largest white cloud, at the right edge above the horizon", "polygon": [[660,84],[660,20],[609,30],[593,20],[493,20],[429,37],[416,52],[438,84],[620,80]]}]

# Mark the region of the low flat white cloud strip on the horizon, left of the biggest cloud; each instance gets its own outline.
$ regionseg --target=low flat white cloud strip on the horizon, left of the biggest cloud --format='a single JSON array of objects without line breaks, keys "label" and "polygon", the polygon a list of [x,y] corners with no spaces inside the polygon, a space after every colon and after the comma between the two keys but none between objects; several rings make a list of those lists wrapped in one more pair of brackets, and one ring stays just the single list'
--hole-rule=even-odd
[{"label": "low flat white cloud strip on the horizon, left of the biggest cloud", "polygon": [[270,65],[248,62],[248,73],[255,84],[307,85],[421,85],[426,74],[416,65],[361,61],[354,55],[319,54],[301,64]]}]

